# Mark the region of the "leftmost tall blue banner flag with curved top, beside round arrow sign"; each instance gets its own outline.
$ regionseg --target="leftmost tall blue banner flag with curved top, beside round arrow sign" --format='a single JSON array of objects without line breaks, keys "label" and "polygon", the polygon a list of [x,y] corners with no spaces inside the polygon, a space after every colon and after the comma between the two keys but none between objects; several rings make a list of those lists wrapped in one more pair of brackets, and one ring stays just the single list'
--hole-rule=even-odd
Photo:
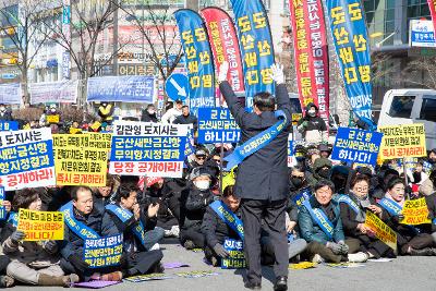
[{"label": "leftmost tall blue banner flag with curved top, beside round arrow sign", "polygon": [[186,60],[191,109],[214,107],[215,72],[203,20],[189,9],[175,11],[174,16]]}]

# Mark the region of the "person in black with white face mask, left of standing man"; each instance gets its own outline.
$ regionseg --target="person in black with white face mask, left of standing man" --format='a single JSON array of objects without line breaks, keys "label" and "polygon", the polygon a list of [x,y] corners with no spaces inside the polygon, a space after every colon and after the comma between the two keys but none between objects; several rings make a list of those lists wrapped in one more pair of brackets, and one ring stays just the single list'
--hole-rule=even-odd
[{"label": "person in black with white face mask, left of standing man", "polygon": [[180,241],[186,250],[205,246],[201,227],[206,208],[214,201],[210,182],[207,168],[194,168],[190,175],[190,184],[182,192]]}]

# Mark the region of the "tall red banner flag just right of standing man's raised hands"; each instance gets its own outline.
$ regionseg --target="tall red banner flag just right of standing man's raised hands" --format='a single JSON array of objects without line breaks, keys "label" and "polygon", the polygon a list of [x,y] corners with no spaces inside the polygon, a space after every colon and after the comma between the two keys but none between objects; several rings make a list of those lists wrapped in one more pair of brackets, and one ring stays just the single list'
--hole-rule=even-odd
[{"label": "tall red banner flag just right of standing man's raised hands", "polygon": [[320,0],[289,1],[301,110],[315,104],[328,126],[329,66]]}]

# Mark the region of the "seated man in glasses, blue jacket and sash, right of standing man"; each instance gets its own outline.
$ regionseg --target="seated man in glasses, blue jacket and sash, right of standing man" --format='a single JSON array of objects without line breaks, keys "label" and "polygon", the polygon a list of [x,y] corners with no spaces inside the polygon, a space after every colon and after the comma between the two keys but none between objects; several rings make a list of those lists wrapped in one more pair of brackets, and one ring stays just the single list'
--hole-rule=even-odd
[{"label": "seated man in glasses, blue jacket and sash, right of standing man", "polygon": [[[359,243],[348,241],[342,230],[339,203],[332,199],[335,186],[330,181],[319,180],[314,195],[303,203],[299,213],[301,237],[308,243],[306,255],[314,262],[340,263],[348,254],[359,250]],[[354,260],[351,259],[350,260]]]}]

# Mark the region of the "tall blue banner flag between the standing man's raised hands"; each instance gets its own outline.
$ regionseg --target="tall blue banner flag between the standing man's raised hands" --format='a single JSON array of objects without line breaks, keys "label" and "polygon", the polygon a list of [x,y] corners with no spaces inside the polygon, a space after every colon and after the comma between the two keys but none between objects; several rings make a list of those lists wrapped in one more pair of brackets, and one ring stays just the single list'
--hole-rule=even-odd
[{"label": "tall blue banner flag between the standing man's raised hands", "polygon": [[238,28],[239,46],[245,75],[246,107],[253,107],[253,97],[261,92],[275,93],[270,77],[274,46],[268,16],[261,0],[230,0]]}]

